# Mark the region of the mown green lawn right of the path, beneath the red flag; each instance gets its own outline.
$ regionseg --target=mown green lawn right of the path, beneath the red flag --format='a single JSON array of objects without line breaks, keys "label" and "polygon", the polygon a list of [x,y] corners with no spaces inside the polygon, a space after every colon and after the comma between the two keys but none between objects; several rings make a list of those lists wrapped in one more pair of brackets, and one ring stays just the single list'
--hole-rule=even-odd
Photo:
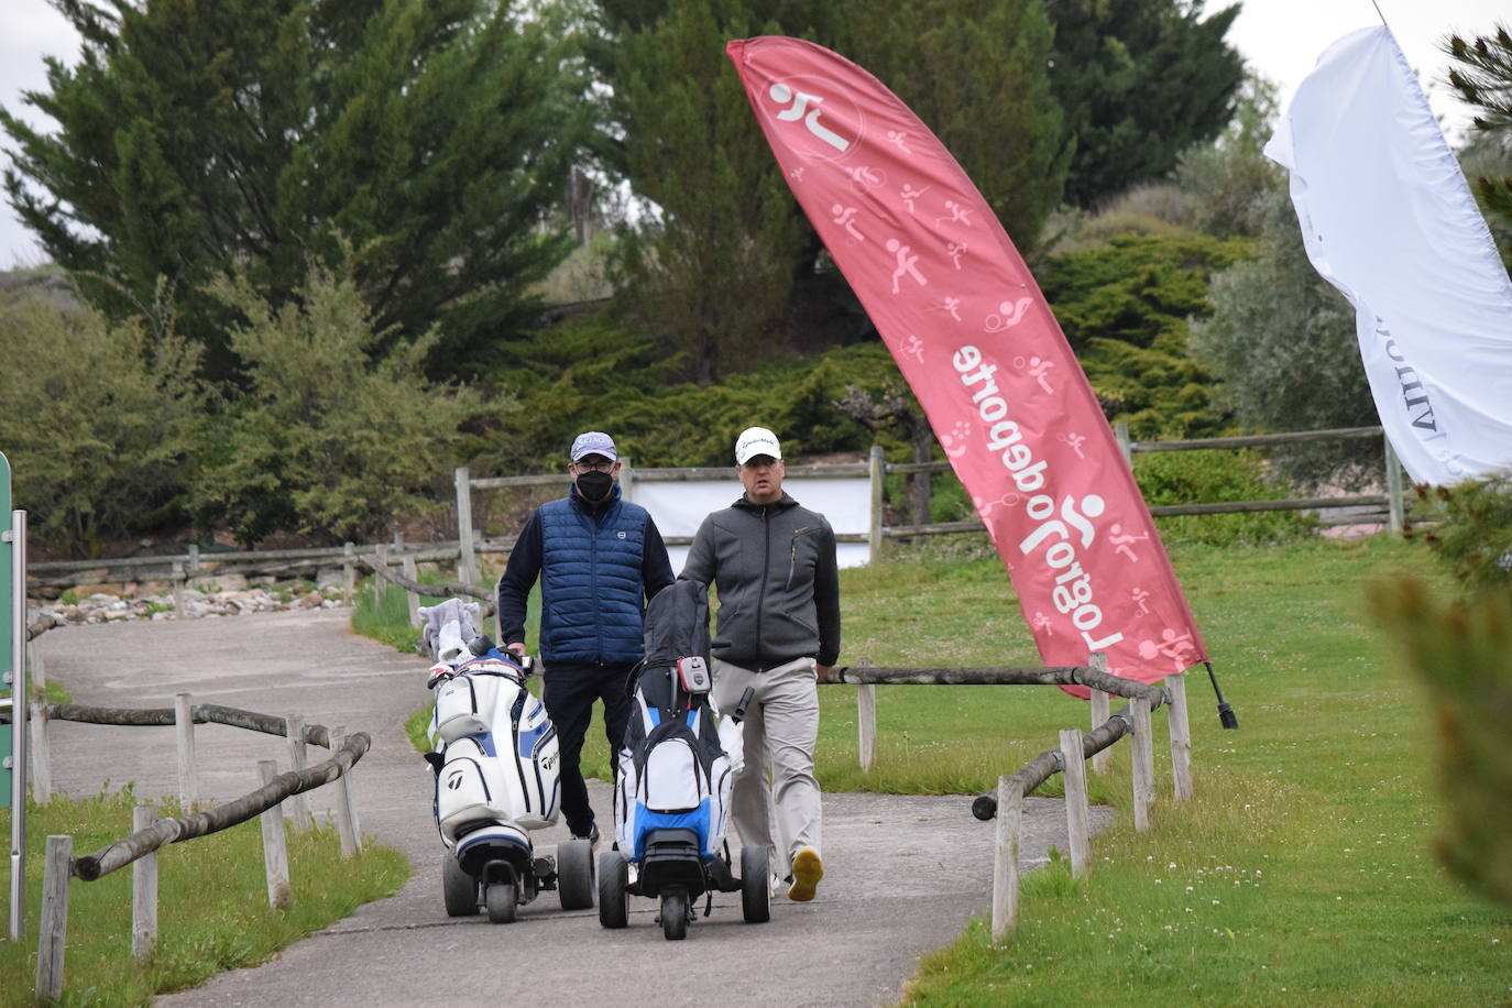
[{"label": "mown green lawn right of the path, beneath the red flag", "polygon": [[[1424,697],[1365,609],[1365,585],[1405,570],[1452,591],[1438,561],[1387,536],[1172,559],[1240,730],[1220,728],[1205,676],[1188,676],[1196,798],[1170,801],[1157,712],[1155,827],[1128,825],[1120,742],[1092,793],[1125,815],[1093,839],[1090,877],[1070,880],[1064,863],[1030,875],[1013,938],[992,948],[974,922],[922,961],[906,1003],[1512,1003],[1512,910],[1430,854]],[[900,559],[842,571],[841,591],[841,663],[1039,663],[996,559]],[[863,774],[854,688],[820,695],[829,790],[969,795],[1054,748],[1058,728],[1087,727],[1086,704],[1055,688],[881,686]],[[608,775],[597,724],[584,766]]]}]

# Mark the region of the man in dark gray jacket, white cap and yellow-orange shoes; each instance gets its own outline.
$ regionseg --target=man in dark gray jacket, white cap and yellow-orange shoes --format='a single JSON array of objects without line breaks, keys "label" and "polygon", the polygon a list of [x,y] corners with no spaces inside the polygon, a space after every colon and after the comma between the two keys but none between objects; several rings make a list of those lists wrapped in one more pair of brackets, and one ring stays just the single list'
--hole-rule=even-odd
[{"label": "man in dark gray jacket, white cap and yellow-orange shoes", "polygon": [[768,848],[773,867],[786,869],[788,898],[807,901],[824,877],[815,680],[841,651],[835,530],[782,491],[782,446],[767,428],[741,432],[735,475],[745,493],[703,520],[679,577],[712,583],[720,594],[715,706],[732,710],[754,689],[730,818],[742,845]]}]

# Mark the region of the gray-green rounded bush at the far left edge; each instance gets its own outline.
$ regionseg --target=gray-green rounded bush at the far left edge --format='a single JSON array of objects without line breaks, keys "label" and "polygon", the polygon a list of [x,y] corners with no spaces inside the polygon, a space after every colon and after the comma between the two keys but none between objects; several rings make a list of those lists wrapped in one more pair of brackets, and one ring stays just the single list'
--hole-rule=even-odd
[{"label": "gray-green rounded bush at the far left edge", "polygon": [[15,506],[44,552],[98,556],[184,508],[207,394],[171,313],[109,320],[0,299],[0,431]]}]

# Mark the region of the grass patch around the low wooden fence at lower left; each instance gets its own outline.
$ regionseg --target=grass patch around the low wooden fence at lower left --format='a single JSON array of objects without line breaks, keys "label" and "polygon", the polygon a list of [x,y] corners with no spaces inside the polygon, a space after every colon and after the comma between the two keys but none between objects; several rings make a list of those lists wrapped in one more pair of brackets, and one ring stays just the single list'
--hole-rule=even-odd
[{"label": "grass patch around the low wooden fence at lower left", "polygon": [[[0,942],[0,1005],[33,1005],[44,846],[48,834],[71,834],[74,855],[132,831],[132,787],[94,798],[54,796],[27,809],[26,934]],[[163,815],[178,815],[163,801]],[[0,810],[9,836],[11,812]],[[410,878],[399,851],[364,843],[343,858],[334,827],[296,833],[286,827],[293,905],[268,905],[262,831],[257,819],[230,830],[169,843],[157,851],[157,949],[132,955],[132,869],[68,884],[65,1005],[147,1005],[153,994],[198,987],[216,973],[256,966],[357,907],[392,896]]]}]

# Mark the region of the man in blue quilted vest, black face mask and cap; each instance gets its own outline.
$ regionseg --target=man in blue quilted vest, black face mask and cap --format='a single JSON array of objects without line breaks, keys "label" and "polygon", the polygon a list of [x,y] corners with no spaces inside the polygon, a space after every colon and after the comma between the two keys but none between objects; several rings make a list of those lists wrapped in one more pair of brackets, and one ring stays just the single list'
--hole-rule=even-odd
[{"label": "man in blue quilted vest, black face mask and cap", "polygon": [[603,701],[612,754],[631,718],[624,683],[644,654],[646,603],[673,576],[650,514],[620,499],[620,461],[608,434],[579,434],[567,475],[567,497],[537,508],[510,553],[499,579],[499,629],[505,647],[525,654],[526,598],[540,577],[541,700],[561,741],[562,816],[575,837],[597,842],[579,771],[593,701]]}]

